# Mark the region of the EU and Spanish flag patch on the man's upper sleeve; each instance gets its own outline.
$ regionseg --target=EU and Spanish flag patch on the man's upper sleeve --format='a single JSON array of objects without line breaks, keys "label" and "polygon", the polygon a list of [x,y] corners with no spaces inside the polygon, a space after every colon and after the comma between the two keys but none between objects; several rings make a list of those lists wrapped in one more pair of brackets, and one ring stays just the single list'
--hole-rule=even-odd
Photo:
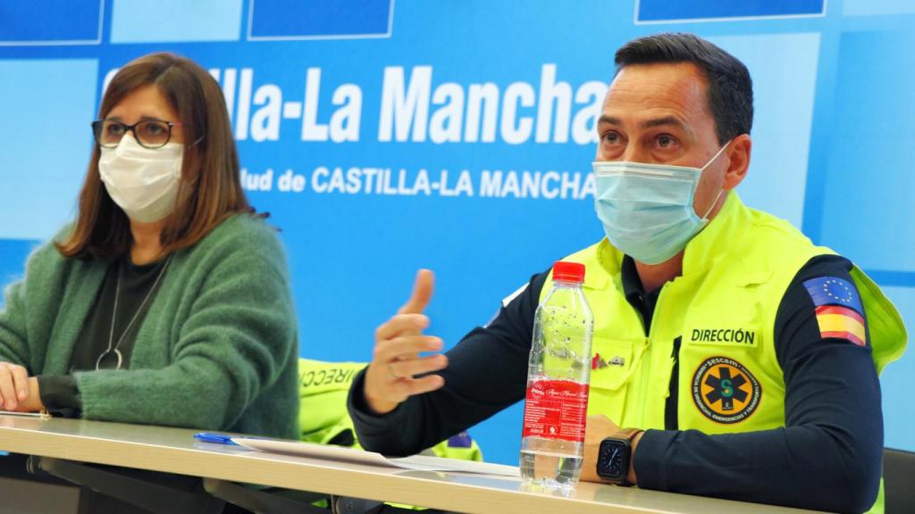
[{"label": "EU and Spanish flag patch on the man's upper sleeve", "polygon": [[836,337],[859,347],[867,346],[864,307],[855,284],[834,276],[813,278],[803,284],[813,299],[823,338]]}]

